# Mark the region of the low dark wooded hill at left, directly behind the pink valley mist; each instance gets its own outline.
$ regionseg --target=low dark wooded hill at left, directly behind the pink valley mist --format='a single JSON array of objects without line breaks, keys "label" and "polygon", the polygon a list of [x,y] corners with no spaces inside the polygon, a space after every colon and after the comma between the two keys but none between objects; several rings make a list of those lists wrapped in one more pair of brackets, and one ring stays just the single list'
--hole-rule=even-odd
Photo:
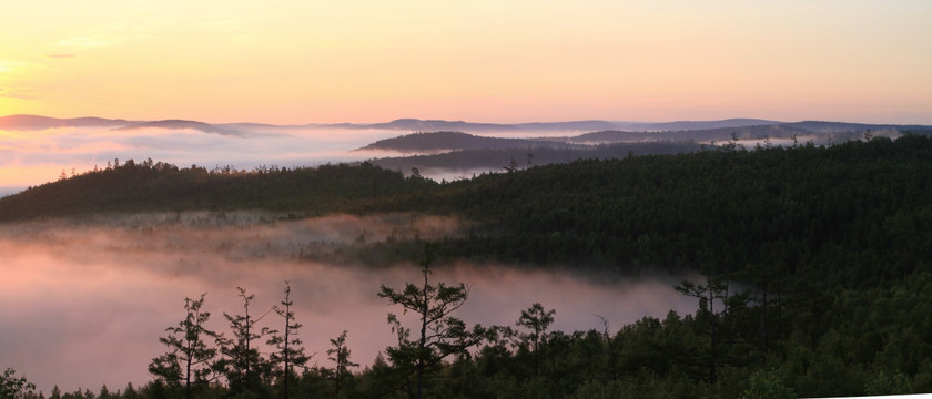
[{"label": "low dark wooded hill at left, directly behind the pink valley mist", "polygon": [[[109,163],[109,162],[108,162]],[[110,164],[110,163],[109,163]],[[100,171],[30,187],[0,200],[0,221],[95,212],[192,209],[294,211],[304,215],[362,212],[399,193],[436,185],[371,164],[306,168],[192,165],[129,160]],[[372,205],[376,203],[376,205]]]}]

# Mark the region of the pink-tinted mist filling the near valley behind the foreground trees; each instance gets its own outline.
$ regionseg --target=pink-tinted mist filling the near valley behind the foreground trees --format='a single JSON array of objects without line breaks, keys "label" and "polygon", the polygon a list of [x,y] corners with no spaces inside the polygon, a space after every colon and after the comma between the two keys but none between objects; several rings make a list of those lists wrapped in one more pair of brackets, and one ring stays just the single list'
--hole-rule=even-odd
[{"label": "pink-tinted mist filling the near valley behind the foreground trees", "polygon": [[[460,221],[388,214],[284,221],[254,212],[97,216],[0,226],[0,359],[38,388],[63,391],[101,385],[122,389],[151,380],[146,367],[165,351],[158,338],[184,317],[184,298],[207,293],[207,326],[227,331],[223,313],[241,314],[236,287],[255,294],[261,316],[283,299],[285,280],[310,365],[331,367],[328,339],[344,329],[352,359],[368,365],[396,337],[376,296],[379,286],[417,282],[418,259],[396,265],[330,265],[303,259],[307,248],[353,248],[386,239],[460,234]],[[610,277],[610,278],[607,278]],[[612,331],[695,301],[672,289],[673,276],[622,278],[508,265],[438,265],[435,282],[470,291],[456,316],[468,325],[514,326],[539,301],[556,309],[554,329]],[[598,315],[598,316],[597,316]],[[261,325],[280,328],[274,313]],[[226,332],[229,335],[229,332]]]}]

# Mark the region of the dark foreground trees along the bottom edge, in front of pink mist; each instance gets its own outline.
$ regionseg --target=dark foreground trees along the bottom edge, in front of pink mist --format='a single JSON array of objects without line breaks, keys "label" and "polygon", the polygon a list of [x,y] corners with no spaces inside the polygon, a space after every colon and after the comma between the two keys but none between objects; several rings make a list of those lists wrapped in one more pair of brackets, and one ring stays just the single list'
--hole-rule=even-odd
[{"label": "dark foreground trees along the bottom edge, in front of pink mist", "polygon": [[[428,310],[446,309],[433,315],[447,316],[440,318],[446,320],[443,324],[427,323],[422,347],[421,326],[425,320],[439,320],[429,316],[425,319],[416,310],[425,309],[425,291],[427,298],[439,298],[440,284],[432,283],[428,274],[427,289],[423,283],[413,285],[414,288],[406,285],[403,291],[387,289],[393,295],[386,299],[395,298],[398,305],[403,300],[418,304],[408,310],[408,317],[394,318],[395,334],[404,329],[405,338],[386,349],[388,356],[379,356],[362,370],[353,370],[346,335],[341,334],[331,340],[333,349],[328,350],[335,367],[314,366],[295,375],[291,396],[409,398],[418,395],[418,380],[422,398],[791,398],[929,392],[932,342],[922,332],[932,329],[929,318],[932,297],[925,293],[930,285],[932,273],[923,270],[911,275],[905,284],[871,291],[837,288],[817,298],[828,309],[822,319],[814,318],[809,306],[800,305],[807,297],[788,297],[784,313],[792,316],[787,323],[796,325],[793,332],[774,334],[766,349],[767,357],[761,356],[764,349],[758,345],[762,304],[732,304],[728,311],[717,310],[719,344],[715,349],[718,360],[712,381],[709,377],[712,308],[708,305],[696,315],[670,311],[662,319],[644,317],[617,331],[607,328],[606,331],[560,331],[549,328],[557,315],[534,304],[516,311],[519,313],[516,331],[485,336],[495,339],[478,339],[484,335],[465,334],[462,323],[449,323],[453,316],[446,310],[456,308],[457,301],[443,305],[428,300]],[[462,294],[458,284],[446,288]],[[685,294],[698,291],[708,298],[709,293],[702,288],[706,286],[693,285]],[[405,293],[416,295],[404,296]],[[712,295],[725,296],[723,293]],[[735,297],[729,295],[729,300]],[[463,295],[447,298],[465,300]],[[199,308],[203,313],[203,307],[192,306],[197,301],[189,300],[186,310],[195,313]],[[719,305],[722,304],[715,309],[725,309]],[[252,307],[250,315],[253,315]],[[447,332],[440,326],[446,326]],[[509,329],[493,326],[482,332]],[[440,336],[453,338],[445,341],[447,345],[438,340]],[[475,346],[467,347],[467,338],[475,338],[472,341]],[[425,366],[419,376],[418,365]],[[4,380],[19,386],[26,383],[12,371],[7,372]],[[281,379],[267,379],[252,390],[236,390],[234,382],[221,378],[207,387],[197,386],[192,392],[194,398],[272,398],[284,395],[282,383]],[[168,383],[158,378],[141,388],[128,386],[115,392],[79,389],[73,393],[60,390],[52,393],[53,398],[182,398],[185,390],[182,383]],[[30,395],[23,392],[22,397],[37,397]]]}]

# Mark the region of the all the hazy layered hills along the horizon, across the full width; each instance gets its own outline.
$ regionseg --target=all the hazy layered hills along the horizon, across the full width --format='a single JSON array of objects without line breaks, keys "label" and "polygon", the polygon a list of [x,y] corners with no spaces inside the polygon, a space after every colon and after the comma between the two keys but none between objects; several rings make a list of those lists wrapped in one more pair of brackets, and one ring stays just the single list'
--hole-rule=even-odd
[{"label": "all the hazy layered hills along the horizon, across the full width", "polygon": [[[702,146],[754,147],[768,145],[829,145],[872,136],[932,134],[928,125],[859,124],[847,122],[778,122],[759,119],[678,121],[662,123],[569,121],[515,124],[399,119],[385,123],[275,125],[260,123],[205,123],[185,120],[129,121],[103,117],[57,119],[38,115],[0,117],[0,131],[102,129],[113,132],[162,130],[216,134],[240,139],[290,136],[293,145],[314,146],[340,132],[356,131],[374,142],[350,151],[346,160],[368,162],[391,170],[419,170],[432,178],[502,171],[517,166],[568,163],[580,158],[617,158],[628,155],[678,154]],[[398,132],[395,137],[377,140]],[[376,133],[376,134],[373,134]],[[181,135],[183,141],[183,135]],[[365,143],[366,141],[361,141]],[[358,145],[358,144],[354,144]],[[229,161],[235,162],[235,161]],[[306,164],[315,160],[307,158]],[[443,172],[438,172],[443,170]]]}]

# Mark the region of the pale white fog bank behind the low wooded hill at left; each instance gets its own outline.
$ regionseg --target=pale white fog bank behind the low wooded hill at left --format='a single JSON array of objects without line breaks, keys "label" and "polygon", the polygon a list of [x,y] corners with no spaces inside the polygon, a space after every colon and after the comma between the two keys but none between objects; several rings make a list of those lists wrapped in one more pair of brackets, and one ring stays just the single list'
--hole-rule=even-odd
[{"label": "pale white fog bank behind the low wooded hill at left", "polygon": [[[242,134],[223,135],[192,129],[110,130],[64,127],[30,132],[0,131],[0,196],[28,186],[58,180],[62,173],[103,168],[116,160],[156,162],[188,167],[233,166],[253,170],[261,165],[317,166],[325,163],[364,161],[414,154],[354,151],[378,140],[411,132],[395,130],[269,126],[250,127]],[[579,132],[521,132],[517,136],[567,135]],[[516,133],[510,133],[516,136]],[[486,135],[507,136],[508,133]],[[425,177],[462,178],[472,172],[435,171]],[[487,171],[475,171],[478,173]]]}]

